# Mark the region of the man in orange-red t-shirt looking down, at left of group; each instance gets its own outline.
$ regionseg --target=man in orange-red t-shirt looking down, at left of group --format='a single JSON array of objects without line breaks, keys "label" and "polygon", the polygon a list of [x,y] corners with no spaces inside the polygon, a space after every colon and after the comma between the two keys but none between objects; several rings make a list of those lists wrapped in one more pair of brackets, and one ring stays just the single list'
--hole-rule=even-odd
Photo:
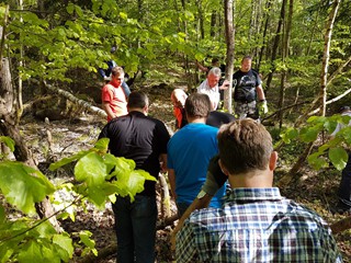
[{"label": "man in orange-red t-shirt looking down, at left of group", "polygon": [[102,88],[102,108],[107,114],[107,122],[128,113],[127,95],[121,85],[124,81],[124,70],[122,67],[114,67],[111,75],[111,81]]}]

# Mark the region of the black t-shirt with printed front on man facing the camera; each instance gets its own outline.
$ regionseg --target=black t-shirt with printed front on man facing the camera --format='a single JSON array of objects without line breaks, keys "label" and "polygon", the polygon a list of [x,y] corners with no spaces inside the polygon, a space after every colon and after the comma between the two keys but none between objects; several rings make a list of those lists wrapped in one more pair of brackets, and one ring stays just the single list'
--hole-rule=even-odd
[{"label": "black t-shirt with printed front on man facing the camera", "polygon": [[262,83],[254,70],[242,72],[238,70],[233,75],[234,100],[237,102],[252,102],[256,100],[256,87]]}]

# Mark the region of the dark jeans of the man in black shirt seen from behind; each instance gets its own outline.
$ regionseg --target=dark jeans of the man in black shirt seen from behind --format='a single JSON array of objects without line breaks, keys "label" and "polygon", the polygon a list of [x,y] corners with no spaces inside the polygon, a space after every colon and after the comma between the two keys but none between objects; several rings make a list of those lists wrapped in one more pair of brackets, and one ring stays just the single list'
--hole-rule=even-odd
[{"label": "dark jeans of the man in black shirt seen from behind", "polygon": [[157,205],[155,196],[117,196],[115,216],[118,263],[154,263]]}]

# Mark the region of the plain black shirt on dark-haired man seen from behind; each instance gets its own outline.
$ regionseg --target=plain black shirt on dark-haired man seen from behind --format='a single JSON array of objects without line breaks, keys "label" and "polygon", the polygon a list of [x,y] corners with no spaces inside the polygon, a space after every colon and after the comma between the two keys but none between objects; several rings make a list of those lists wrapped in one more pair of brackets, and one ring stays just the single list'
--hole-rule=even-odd
[{"label": "plain black shirt on dark-haired man seen from behind", "polygon": [[[100,138],[109,138],[109,149],[115,157],[133,159],[137,169],[143,169],[158,179],[159,156],[167,153],[169,134],[165,124],[140,112],[112,119],[102,129]],[[155,195],[155,182],[145,181],[143,195]]]}]

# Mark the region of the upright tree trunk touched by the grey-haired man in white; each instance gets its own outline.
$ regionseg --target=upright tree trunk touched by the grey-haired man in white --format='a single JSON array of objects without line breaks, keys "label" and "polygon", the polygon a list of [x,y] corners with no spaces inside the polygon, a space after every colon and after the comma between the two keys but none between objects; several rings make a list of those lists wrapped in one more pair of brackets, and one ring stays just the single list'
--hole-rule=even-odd
[{"label": "upright tree trunk touched by the grey-haired man in white", "polygon": [[226,59],[226,79],[229,81],[229,88],[224,93],[224,107],[229,113],[233,112],[231,94],[233,94],[233,70],[234,70],[234,50],[235,50],[235,25],[233,21],[234,4],[233,0],[225,0],[225,28],[226,28],[226,44],[227,44],[227,59]]}]

